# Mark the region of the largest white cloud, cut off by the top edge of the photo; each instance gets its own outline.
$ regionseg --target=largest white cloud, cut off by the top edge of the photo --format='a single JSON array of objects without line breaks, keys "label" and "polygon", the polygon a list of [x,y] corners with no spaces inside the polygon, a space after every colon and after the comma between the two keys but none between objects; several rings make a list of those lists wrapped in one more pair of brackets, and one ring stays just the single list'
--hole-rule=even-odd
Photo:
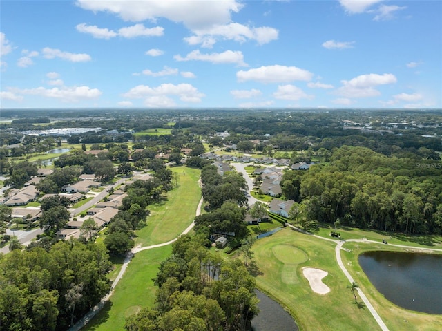
[{"label": "largest white cloud, cut off by the top edge of the photo", "polygon": [[131,1],[130,5],[123,0],[77,0],[76,3],[77,6],[93,12],[111,12],[124,21],[155,21],[157,18],[164,17],[176,23],[184,23],[191,30],[229,23],[231,13],[239,12],[243,6],[237,0],[137,0]]}]

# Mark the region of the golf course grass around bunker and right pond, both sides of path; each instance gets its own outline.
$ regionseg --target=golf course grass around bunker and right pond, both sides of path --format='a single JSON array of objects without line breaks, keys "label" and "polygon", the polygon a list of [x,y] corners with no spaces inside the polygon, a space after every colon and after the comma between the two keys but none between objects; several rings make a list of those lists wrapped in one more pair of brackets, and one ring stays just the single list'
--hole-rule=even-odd
[{"label": "golf course grass around bunker and right pond, both sides of path", "polygon": [[[352,231],[353,236],[358,239],[385,238],[383,234],[376,232],[341,230],[338,229],[344,238],[348,238]],[[329,238],[329,231],[330,229],[321,229],[320,235]],[[434,242],[437,242],[438,238],[434,238]],[[397,240],[397,243],[402,245],[410,243],[399,241],[397,238],[392,240]],[[349,281],[336,262],[334,247],[334,243],[288,228],[257,240],[253,245],[253,251],[260,269],[257,277],[258,287],[287,308],[292,316],[295,316],[301,330],[378,330],[379,327],[369,310],[364,305],[354,303],[352,292],[348,288]],[[351,250],[341,253],[347,269],[391,331],[441,330],[441,315],[410,312],[393,305],[376,291],[358,265],[358,254],[365,250],[398,248],[383,244],[358,243],[346,243],[345,248]],[[302,267],[317,267],[328,272],[323,282],[330,287],[331,292],[325,295],[315,294],[302,276]],[[405,323],[404,319],[408,323]]]}]

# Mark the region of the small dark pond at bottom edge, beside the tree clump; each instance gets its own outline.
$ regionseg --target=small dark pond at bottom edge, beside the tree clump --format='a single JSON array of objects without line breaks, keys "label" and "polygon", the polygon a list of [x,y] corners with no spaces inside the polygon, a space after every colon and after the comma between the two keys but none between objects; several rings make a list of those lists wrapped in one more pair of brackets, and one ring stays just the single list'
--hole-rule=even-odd
[{"label": "small dark pond at bottom edge, beside the tree clump", "polygon": [[298,331],[294,319],[286,312],[279,303],[270,299],[264,293],[255,290],[256,296],[260,299],[258,307],[260,312],[251,320],[253,331]]}]

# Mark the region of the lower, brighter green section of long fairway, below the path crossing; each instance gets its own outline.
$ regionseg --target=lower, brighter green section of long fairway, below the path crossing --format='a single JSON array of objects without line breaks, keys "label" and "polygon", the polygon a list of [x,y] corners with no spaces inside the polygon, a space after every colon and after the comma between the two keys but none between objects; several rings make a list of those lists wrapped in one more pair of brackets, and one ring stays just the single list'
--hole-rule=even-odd
[{"label": "lower, brighter green section of long fairway, below the path crossing", "polygon": [[172,246],[138,252],[102,311],[90,321],[86,331],[121,331],[126,318],[144,306],[153,306],[155,301],[155,278],[160,263],[172,252]]}]

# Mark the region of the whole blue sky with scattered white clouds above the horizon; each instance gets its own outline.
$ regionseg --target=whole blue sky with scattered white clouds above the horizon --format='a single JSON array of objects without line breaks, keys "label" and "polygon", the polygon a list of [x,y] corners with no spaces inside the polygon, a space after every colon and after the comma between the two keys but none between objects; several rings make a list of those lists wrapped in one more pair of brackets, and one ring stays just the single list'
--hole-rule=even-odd
[{"label": "whole blue sky with scattered white clouds above the horizon", "polygon": [[442,1],[0,1],[1,108],[441,108]]}]

